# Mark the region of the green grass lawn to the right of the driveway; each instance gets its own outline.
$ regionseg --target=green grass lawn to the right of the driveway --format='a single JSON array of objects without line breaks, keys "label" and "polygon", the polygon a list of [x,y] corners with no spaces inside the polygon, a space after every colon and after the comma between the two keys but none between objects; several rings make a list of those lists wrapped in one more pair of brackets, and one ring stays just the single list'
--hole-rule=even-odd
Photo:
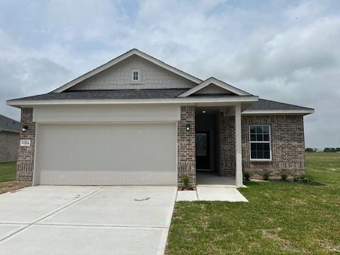
[{"label": "green grass lawn to the right of the driveway", "polygon": [[340,154],[307,154],[326,186],[246,182],[249,203],[176,203],[166,254],[339,254]]}]

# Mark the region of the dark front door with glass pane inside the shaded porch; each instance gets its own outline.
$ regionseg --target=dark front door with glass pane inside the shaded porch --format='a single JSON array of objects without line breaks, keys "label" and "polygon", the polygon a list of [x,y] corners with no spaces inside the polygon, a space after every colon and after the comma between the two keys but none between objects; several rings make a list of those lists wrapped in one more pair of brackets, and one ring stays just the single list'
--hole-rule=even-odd
[{"label": "dark front door with glass pane inside the shaded porch", "polygon": [[209,132],[196,132],[196,169],[210,169]]}]

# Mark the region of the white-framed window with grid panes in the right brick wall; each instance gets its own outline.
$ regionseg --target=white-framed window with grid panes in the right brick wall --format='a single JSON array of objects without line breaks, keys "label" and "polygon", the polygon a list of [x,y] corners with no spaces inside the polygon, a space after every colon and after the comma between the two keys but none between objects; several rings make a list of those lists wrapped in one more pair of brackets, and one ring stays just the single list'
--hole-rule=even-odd
[{"label": "white-framed window with grid panes in the right brick wall", "polygon": [[250,159],[271,160],[271,126],[249,125]]}]

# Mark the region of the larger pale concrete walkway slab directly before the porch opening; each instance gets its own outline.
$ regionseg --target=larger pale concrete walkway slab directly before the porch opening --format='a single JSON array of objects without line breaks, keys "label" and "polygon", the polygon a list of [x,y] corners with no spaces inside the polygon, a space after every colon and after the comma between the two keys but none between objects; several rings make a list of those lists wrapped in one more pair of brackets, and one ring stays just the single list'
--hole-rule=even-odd
[{"label": "larger pale concrete walkway slab directly before the porch opening", "polygon": [[237,188],[197,187],[198,201],[248,202]]}]

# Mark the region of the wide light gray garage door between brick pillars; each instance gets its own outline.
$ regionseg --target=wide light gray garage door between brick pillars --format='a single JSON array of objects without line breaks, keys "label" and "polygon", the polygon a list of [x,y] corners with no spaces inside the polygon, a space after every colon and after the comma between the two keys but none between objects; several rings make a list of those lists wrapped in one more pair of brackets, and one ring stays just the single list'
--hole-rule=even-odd
[{"label": "wide light gray garage door between brick pillars", "polygon": [[176,185],[176,124],[38,125],[35,181]]}]

